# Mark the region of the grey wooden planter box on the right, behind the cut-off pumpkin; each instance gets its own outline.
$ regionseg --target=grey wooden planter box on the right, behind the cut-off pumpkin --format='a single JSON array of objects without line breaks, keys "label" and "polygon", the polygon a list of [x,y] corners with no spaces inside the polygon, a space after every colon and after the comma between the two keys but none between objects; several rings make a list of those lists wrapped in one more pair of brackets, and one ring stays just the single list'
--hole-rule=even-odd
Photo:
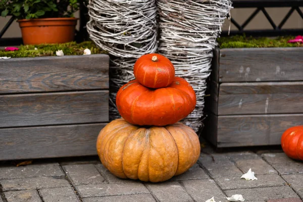
[{"label": "grey wooden planter box on the right, behind the cut-off pumpkin", "polygon": [[217,147],[279,145],[303,124],[303,48],[216,48],[203,136]]}]

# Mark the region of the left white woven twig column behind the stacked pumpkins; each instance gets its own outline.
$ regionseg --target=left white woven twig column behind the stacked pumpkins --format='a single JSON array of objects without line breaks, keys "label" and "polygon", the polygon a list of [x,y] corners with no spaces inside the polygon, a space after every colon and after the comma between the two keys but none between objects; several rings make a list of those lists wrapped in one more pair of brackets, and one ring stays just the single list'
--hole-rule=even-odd
[{"label": "left white woven twig column behind the stacked pumpkins", "polygon": [[90,0],[87,31],[108,51],[110,63],[110,120],[120,118],[115,105],[119,88],[134,78],[133,65],[157,50],[155,0]]}]

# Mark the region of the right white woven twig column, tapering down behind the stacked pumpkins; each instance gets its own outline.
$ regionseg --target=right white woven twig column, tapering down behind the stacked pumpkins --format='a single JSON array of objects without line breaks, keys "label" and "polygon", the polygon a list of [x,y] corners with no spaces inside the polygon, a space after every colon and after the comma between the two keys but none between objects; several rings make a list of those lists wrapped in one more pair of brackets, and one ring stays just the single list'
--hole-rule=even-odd
[{"label": "right white woven twig column, tapering down behind the stacked pumpkins", "polygon": [[175,66],[196,92],[195,110],[183,123],[196,132],[202,125],[206,79],[212,50],[231,8],[230,0],[157,0],[160,15],[158,52]]}]

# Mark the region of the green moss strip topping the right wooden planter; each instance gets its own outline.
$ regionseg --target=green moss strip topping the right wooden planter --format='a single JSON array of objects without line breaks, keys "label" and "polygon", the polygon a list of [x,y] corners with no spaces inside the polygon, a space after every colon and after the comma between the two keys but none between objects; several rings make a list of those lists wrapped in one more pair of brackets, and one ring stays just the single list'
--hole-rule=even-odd
[{"label": "green moss strip topping the right wooden planter", "polygon": [[217,39],[220,48],[241,48],[241,47],[303,47],[302,43],[287,43],[294,36],[281,36],[276,38],[268,37],[246,37],[228,36]]}]

